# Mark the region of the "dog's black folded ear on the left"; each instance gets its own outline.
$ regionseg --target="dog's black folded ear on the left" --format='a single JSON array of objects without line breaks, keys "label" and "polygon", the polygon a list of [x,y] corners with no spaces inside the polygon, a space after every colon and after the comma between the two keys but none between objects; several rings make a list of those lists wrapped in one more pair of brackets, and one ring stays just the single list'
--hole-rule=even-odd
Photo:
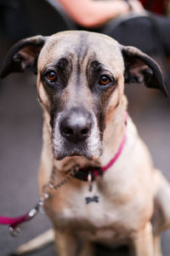
[{"label": "dog's black folded ear on the left", "polygon": [[14,44],[3,62],[1,78],[6,77],[9,73],[23,72],[26,69],[37,73],[37,57],[45,41],[45,37],[36,36],[22,39]]}]

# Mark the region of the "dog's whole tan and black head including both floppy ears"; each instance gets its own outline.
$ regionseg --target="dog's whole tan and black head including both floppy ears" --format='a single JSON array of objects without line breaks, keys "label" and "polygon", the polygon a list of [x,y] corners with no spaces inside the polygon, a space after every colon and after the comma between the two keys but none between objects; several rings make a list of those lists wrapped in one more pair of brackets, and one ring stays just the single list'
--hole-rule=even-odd
[{"label": "dog's whole tan and black head including both floppy ears", "polygon": [[167,93],[161,70],[148,55],[94,32],[21,40],[9,51],[2,77],[26,69],[37,73],[38,96],[57,160],[102,154],[105,119],[110,108],[114,116],[125,82],[144,82]]}]

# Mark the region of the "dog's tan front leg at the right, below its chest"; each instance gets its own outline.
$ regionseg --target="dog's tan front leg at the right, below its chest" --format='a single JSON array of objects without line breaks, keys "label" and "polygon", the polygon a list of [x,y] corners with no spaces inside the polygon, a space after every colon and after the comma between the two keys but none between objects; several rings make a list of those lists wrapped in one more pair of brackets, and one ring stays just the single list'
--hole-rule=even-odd
[{"label": "dog's tan front leg at the right, below its chest", "polygon": [[133,233],[131,254],[133,256],[154,256],[153,234],[150,222],[144,228]]}]

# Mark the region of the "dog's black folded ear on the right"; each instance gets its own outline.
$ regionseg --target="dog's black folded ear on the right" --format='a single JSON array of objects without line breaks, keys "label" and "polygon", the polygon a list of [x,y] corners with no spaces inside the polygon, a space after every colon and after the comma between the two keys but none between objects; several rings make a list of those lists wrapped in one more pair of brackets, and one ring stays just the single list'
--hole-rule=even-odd
[{"label": "dog's black folded ear on the right", "polygon": [[170,95],[170,87],[164,83],[161,68],[156,61],[132,46],[121,46],[125,61],[125,83],[144,83],[149,88],[162,90]]}]

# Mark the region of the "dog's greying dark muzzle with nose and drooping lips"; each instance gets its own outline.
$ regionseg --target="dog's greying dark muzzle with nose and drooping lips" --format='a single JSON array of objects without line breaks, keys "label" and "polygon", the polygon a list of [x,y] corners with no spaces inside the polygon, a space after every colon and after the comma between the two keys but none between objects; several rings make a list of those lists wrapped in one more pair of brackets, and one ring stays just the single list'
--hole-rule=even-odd
[{"label": "dog's greying dark muzzle with nose and drooping lips", "polygon": [[56,160],[67,156],[83,156],[92,160],[102,153],[95,116],[88,109],[65,109],[54,118],[53,124],[52,147]]}]

